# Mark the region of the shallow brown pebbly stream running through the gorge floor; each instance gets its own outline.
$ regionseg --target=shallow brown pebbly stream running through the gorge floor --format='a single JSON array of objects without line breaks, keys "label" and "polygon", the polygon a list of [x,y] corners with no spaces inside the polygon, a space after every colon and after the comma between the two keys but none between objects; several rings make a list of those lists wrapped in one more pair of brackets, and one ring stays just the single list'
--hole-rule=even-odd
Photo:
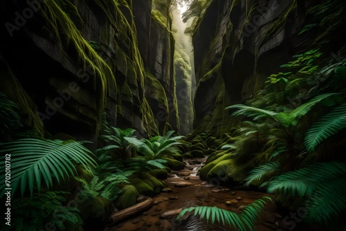
[{"label": "shallow brown pebbly stream running through the gorge floor", "polygon": [[[217,206],[240,214],[244,206],[262,196],[271,196],[264,192],[235,190],[229,187],[212,185],[202,181],[198,170],[204,165],[206,158],[185,159],[185,169],[173,171],[164,180],[167,192],[161,192],[153,197],[153,205],[143,212],[130,216],[120,223],[104,228],[103,231],[134,231],[134,230],[235,230],[222,223],[211,224],[200,220],[199,216],[184,215],[175,221],[176,210],[191,206]],[[197,164],[198,163],[198,164]],[[178,185],[177,185],[178,184]],[[179,184],[183,184],[180,185]],[[186,184],[186,185],[184,185]],[[163,190],[163,191],[165,191]],[[226,202],[228,202],[226,204]],[[275,213],[274,203],[268,203],[262,214],[262,219],[255,225],[256,230],[278,230],[282,224],[282,216]],[[172,216],[165,216],[165,212],[172,212]],[[281,227],[280,227],[281,228]]]}]

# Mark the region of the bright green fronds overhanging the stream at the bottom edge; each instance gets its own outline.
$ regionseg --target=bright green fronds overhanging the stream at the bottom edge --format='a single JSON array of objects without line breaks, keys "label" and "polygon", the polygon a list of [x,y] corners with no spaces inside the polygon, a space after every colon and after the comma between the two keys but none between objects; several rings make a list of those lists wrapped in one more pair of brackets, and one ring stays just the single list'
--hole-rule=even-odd
[{"label": "bright green fronds overhanging the stream at the bottom edge", "polygon": [[176,220],[180,219],[186,212],[192,212],[192,210],[194,210],[194,216],[199,215],[200,219],[203,219],[204,216],[206,216],[207,222],[211,219],[212,223],[215,223],[215,221],[218,223],[222,222],[223,225],[226,224],[233,226],[237,230],[255,230],[255,221],[257,221],[261,213],[264,211],[264,206],[267,203],[266,200],[273,201],[272,198],[264,196],[251,203],[251,205],[246,206],[240,215],[218,207],[188,207],[176,216]]}]

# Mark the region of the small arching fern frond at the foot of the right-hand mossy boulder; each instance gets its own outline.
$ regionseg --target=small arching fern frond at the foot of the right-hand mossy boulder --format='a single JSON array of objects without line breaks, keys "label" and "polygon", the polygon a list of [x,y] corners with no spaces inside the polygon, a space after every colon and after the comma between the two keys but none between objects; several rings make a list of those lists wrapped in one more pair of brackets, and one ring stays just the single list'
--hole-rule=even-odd
[{"label": "small arching fern frond at the foot of the right-hand mossy boulder", "polygon": [[248,174],[248,177],[244,179],[246,182],[244,185],[248,187],[253,183],[253,181],[260,181],[264,176],[271,174],[273,172],[280,171],[279,169],[280,163],[277,161],[265,163],[264,165],[260,165],[251,170]]}]

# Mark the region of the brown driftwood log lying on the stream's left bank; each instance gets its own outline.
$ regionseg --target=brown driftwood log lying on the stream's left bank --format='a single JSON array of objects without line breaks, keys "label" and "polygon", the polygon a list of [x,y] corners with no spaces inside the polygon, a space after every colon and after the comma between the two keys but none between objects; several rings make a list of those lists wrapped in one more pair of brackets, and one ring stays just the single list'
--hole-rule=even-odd
[{"label": "brown driftwood log lying on the stream's left bank", "polygon": [[124,210],[120,210],[118,212],[113,213],[109,217],[109,223],[106,226],[113,225],[114,223],[117,223],[119,221],[122,221],[123,219],[126,219],[128,216],[134,215],[140,211],[143,211],[147,209],[147,207],[150,207],[153,203],[153,200],[149,196],[140,196],[137,201],[140,201],[136,203],[136,205],[133,205],[131,207],[127,207]]}]

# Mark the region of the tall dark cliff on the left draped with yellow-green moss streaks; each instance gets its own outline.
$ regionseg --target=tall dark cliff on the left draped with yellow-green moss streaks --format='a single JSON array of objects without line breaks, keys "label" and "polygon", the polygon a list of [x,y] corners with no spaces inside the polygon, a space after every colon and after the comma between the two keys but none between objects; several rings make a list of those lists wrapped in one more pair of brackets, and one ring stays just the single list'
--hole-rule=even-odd
[{"label": "tall dark cliff on the left draped with yellow-green moss streaks", "polygon": [[28,127],[96,143],[105,112],[142,136],[179,129],[167,10],[163,22],[152,0],[33,2],[0,10],[0,91]]}]

